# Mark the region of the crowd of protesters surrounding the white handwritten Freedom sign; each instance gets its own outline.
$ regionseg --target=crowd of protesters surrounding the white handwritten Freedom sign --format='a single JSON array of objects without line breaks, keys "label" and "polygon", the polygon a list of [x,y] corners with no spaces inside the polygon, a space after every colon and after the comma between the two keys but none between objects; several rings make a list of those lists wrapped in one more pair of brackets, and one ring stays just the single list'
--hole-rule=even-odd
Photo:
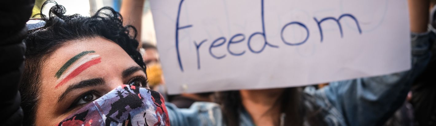
[{"label": "crowd of protesters surrounding the white handwritten Freedom sign", "polygon": [[29,23],[34,0],[3,0],[1,125],[436,126],[434,0],[408,0],[408,71],[180,95],[166,94],[156,46],[138,39],[142,10],[133,6],[143,2],[85,17],[47,0],[49,14]]}]

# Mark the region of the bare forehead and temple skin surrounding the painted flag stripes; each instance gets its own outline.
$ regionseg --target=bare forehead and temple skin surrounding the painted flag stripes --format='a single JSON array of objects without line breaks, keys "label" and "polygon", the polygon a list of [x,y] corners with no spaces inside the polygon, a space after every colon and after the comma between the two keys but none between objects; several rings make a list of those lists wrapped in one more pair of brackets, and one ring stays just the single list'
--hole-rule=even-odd
[{"label": "bare forehead and temple skin surrounding the painted flag stripes", "polygon": [[[109,79],[108,90],[112,87],[123,84],[121,79],[121,71],[129,66],[137,65],[132,58],[115,42],[102,37],[95,37],[92,39],[75,40],[67,42],[68,44],[58,48],[49,58],[43,63],[41,70],[41,87],[39,103],[36,110],[36,123],[47,125],[57,125],[68,114],[62,114],[55,111],[57,98],[62,92],[72,84],[71,82],[78,82],[80,80],[102,77]],[[56,77],[54,76],[59,68],[65,64],[73,56],[87,50],[94,50],[94,54],[100,55],[101,63],[93,65],[80,73],[75,78],[72,78],[65,85],[54,88]],[[114,79],[111,79],[114,78]],[[72,93],[74,94],[74,93]],[[38,120],[43,119],[43,120]]]}]

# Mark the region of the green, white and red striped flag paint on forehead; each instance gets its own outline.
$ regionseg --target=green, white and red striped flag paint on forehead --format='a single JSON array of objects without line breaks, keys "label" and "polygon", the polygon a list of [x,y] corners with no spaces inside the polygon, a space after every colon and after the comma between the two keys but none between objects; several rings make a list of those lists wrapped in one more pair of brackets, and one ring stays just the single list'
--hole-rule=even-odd
[{"label": "green, white and red striped flag paint on forehead", "polygon": [[92,55],[92,53],[95,53],[95,51],[81,52],[62,65],[55,75],[55,77],[58,78],[58,84],[55,88],[62,86],[92,65],[100,63],[100,55]]}]

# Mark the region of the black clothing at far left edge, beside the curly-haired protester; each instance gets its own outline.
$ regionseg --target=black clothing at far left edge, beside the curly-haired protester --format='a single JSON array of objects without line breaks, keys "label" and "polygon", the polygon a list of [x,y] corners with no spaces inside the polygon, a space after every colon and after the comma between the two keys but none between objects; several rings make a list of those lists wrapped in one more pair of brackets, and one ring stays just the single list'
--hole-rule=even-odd
[{"label": "black clothing at far left edge, beside the curly-haired protester", "polygon": [[31,16],[34,0],[1,0],[0,5],[0,126],[20,126],[19,82],[24,68],[27,34],[26,22]]}]

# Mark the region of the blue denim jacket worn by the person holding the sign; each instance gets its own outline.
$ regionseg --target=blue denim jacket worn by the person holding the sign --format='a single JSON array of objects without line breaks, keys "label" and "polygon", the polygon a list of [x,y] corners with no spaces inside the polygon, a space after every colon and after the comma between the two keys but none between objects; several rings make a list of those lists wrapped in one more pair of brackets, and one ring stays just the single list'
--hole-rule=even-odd
[{"label": "blue denim jacket worn by the person holding the sign", "polygon": [[[304,93],[321,108],[320,114],[328,126],[381,126],[402,105],[412,81],[427,65],[433,36],[433,32],[412,33],[412,69],[409,71],[331,82],[320,90],[306,88]],[[166,104],[172,126],[225,125],[216,103],[196,102],[189,109]],[[240,114],[240,126],[254,126],[248,113]]]}]

